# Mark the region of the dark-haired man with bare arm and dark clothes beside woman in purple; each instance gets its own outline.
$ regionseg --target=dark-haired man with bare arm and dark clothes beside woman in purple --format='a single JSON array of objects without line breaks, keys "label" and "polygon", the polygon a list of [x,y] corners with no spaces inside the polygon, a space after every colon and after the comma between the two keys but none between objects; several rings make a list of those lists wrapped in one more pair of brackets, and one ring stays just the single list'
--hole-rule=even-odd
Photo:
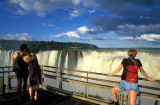
[{"label": "dark-haired man with bare arm and dark clothes beside woman in purple", "polygon": [[21,102],[21,87],[23,81],[23,94],[26,93],[28,79],[28,64],[24,62],[24,50],[27,49],[26,44],[20,46],[20,51],[15,52],[12,56],[13,71],[17,77],[17,95],[18,101]]}]

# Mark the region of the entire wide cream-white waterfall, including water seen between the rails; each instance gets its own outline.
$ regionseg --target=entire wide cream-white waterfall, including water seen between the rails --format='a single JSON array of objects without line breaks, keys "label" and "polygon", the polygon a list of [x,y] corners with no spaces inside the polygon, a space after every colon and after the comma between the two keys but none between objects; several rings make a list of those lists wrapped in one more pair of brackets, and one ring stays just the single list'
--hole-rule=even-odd
[{"label": "entire wide cream-white waterfall, including water seen between the rails", "polygon": [[[160,51],[159,51],[160,52]],[[155,52],[146,52],[146,51],[140,51],[138,52],[136,58],[140,59],[143,65],[144,71],[147,73],[149,77],[155,78],[157,80],[160,80],[160,53]],[[11,65],[11,58],[14,51],[3,51],[0,50],[0,64],[1,66],[9,66]],[[68,69],[74,69],[74,70],[83,70],[83,71],[91,71],[91,72],[98,72],[98,73],[111,73],[115,71],[119,65],[121,64],[122,60],[124,58],[128,58],[127,50],[101,50],[101,51],[42,51],[36,54],[37,59],[40,65],[48,65],[48,66],[55,66],[55,67],[61,67],[61,68],[68,68]],[[48,70],[48,68],[46,68]],[[49,69],[49,70],[56,70],[57,69]],[[116,75],[122,74],[121,70]],[[47,72],[46,72],[47,73]],[[71,71],[64,71],[63,73],[72,73]],[[49,73],[53,75],[52,73]],[[74,73],[75,75],[82,75],[86,76],[85,73]],[[56,74],[54,74],[56,76]],[[139,72],[139,77],[144,78],[144,76]],[[57,75],[58,76],[58,75]],[[106,80],[112,80],[112,81],[120,81],[120,78],[114,78],[114,77],[108,77],[108,76],[99,76],[99,75],[92,75],[89,74],[89,77],[92,78],[99,78],[99,79],[106,79]],[[65,78],[71,78],[70,76],[63,76]],[[76,79],[76,78],[75,78]],[[79,78],[78,78],[79,80]],[[86,81],[86,79],[81,79],[82,81]],[[49,86],[58,86],[58,82],[53,81],[52,79],[45,78],[45,82]],[[94,81],[89,80],[89,82],[98,83],[102,85],[108,85],[108,86],[115,86],[115,84],[111,83],[104,83],[100,81]],[[152,86],[159,88],[159,83],[151,83],[151,82],[144,82],[142,83],[139,81],[141,85],[145,86]],[[72,85],[68,85],[67,83],[63,84],[63,88],[65,89],[72,89]],[[83,87],[79,86],[79,89],[75,90],[78,92],[82,92]],[[72,90],[74,91],[74,90]],[[142,90],[141,90],[142,91]],[[157,91],[152,90],[146,90],[143,89],[144,92],[159,94]],[[103,91],[105,92],[105,90]],[[92,94],[96,95],[96,93]]]}]

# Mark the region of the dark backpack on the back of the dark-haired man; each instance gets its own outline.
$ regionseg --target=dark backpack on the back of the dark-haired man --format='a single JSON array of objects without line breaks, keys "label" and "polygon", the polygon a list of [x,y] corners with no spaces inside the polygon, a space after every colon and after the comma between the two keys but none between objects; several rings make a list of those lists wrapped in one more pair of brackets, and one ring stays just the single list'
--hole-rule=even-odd
[{"label": "dark backpack on the back of the dark-haired man", "polygon": [[20,70],[21,68],[21,64],[22,64],[22,57],[20,55],[20,53],[18,52],[18,56],[14,59],[14,63],[13,63],[13,70],[14,72],[17,72]]}]

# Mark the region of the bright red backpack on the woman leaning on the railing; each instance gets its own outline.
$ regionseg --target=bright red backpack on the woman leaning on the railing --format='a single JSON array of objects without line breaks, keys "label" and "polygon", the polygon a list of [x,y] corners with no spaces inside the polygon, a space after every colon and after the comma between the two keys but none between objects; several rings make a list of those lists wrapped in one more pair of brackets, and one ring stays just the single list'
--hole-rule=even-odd
[{"label": "bright red backpack on the woman leaning on the railing", "polygon": [[133,66],[133,65],[128,65],[127,66],[126,81],[132,82],[132,83],[137,83],[137,80],[138,80],[138,67]]}]

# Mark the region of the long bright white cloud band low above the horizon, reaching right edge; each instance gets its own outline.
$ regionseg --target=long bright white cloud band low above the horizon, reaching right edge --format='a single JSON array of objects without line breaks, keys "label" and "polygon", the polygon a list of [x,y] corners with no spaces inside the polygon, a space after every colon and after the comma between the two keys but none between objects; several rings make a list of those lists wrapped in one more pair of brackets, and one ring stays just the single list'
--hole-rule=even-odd
[{"label": "long bright white cloud band low above the horizon, reaching right edge", "polygon": [[[129,28],[135,28],[136,26],[134,25],[125,25],[125,26],[119,26],[119,29],[123,29],[124,27],[128,26]],[[145,27],[145,26],[138,26],[136,27],[136,29],[147,29],[147,28],[151,28],[153,26],[150,27]],[[114,36],[116,33],[114,32],[109,32],[107,34],[108,37],[95,37],[93,35],[90,35],[89,37],[81,37],[80,34],[86,34],[86,33],[90,33],[90,32],[94,32],[95,28],[88,28],[87,26],[82,26],[77,28],[75,31],[69,31],[66,33],[61,33],[61,34],[57,34],[57,35],[50,35],[50,38],[57,38],[57,37],[62,37],[62,36],[66,36],[69,38],[75,38],[75,39],[79,39],[79,40],[100,40],[100,41],[105,41],[105,40],[130,40],[130,41],[146,41],[146,42],[156,42],[159,43],[160,41],[160,34],[141,34],[141,35],[137,35],[137,36]],[[127,30],[125,28],[125,30]],[[126,32],[127,33],[127,32]],[[112,36],[109,36],[111,35]]]}]

